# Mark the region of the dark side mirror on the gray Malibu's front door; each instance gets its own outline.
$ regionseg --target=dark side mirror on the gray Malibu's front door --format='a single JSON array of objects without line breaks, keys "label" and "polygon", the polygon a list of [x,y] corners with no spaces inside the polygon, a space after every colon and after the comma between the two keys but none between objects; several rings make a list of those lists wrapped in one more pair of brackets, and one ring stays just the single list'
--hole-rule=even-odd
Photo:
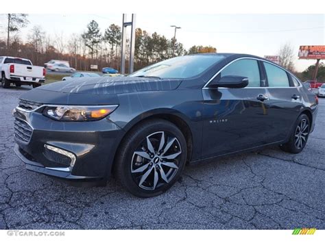
[{"label": "dark side mirror on the gray Malibu's front door", "polygon": [[244,88],[246,86],[248,86],[248,77],[235,75],[227,75],[221,78],[218,75],[209,85],[210,88]]}]

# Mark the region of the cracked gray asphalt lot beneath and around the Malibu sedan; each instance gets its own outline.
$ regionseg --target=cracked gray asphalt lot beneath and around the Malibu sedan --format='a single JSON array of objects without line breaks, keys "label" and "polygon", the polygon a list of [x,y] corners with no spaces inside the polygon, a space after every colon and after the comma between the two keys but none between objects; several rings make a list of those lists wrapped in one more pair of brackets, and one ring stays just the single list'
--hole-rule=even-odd
[{"label": "cracked gray asphalt lot beneath and around the Malibu sedan", "polygon": [[151,199],[114,179],[75,188],[25,169],[14,155],[12,109],[29,88],[0,88],[0,229],[325,229],[325,99],[304,151],[277,147],[188,166]]}]

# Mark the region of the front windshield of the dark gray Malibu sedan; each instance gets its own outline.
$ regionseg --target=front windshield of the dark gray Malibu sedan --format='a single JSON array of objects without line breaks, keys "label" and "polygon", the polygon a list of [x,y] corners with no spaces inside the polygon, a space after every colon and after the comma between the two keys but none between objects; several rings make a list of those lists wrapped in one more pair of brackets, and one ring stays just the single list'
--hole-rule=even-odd
[{"label": "front windshield of the dark gray Malibu sedan", "polygon": [[130,77],[189,78],[220,62],[224,55],[184,55],[142,68]]}]

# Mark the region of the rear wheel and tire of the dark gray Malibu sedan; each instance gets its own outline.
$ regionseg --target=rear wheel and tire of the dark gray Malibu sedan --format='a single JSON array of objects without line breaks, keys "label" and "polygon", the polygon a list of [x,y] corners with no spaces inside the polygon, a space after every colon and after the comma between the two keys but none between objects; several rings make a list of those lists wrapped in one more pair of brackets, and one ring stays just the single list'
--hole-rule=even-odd
[{"label": "rear wheel and tire of the dark gray Malibu sedan", "polygon": [[300,153],[309,137],[311,129],[311,123],[309,117],[306,114],[301,114],[291,131],[289,141],[280,145],[280,149],[287,153]]}]

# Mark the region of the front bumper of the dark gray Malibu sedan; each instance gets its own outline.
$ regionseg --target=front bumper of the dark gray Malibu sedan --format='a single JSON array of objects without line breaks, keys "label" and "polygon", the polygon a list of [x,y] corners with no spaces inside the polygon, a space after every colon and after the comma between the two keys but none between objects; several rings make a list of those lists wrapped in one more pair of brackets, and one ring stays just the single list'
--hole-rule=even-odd
[{"label": "front bumper of the dark gray Malibu sedan", "polygon": [[[32,129],[27,139],[17,133],[24,127],[15,127],[14,135],[14,152],[28,170],[70,181],[109,178],[124,132],[108,118],[93,122],[61,122],[40,112],[14,110],[13,114],[16,120]],[[56,148],[58,153],[49,148]],[[65,160],[73,157],[75,161],[67,164]]]}]

